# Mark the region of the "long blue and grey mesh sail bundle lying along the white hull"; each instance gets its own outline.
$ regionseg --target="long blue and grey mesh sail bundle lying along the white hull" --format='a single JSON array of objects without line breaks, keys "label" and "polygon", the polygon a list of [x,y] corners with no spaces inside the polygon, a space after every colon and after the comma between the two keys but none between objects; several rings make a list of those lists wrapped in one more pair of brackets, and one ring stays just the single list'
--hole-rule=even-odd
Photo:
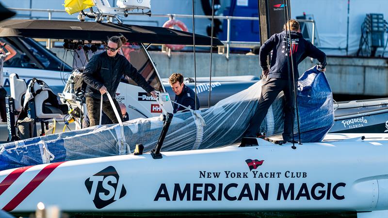
[{"label": "long blue and grey mesh sail bundle lying along the white hull", "polygon": [[[334,124],[333,97],[324,73],[316,67],[309,69],[300,78],[298,89],[302,142],[322,140]],[[191,111],[175,114],[163,142],[162,152],[217,148],[241,140],[257,108],[260,94],[261,81],[209,109],[196,110],[195,113],[203,118],[206,125],[198,123],[198,118]],[[265,122],[260,126],[260,131],[268,135],[282,132],[282,104],[283,99],[279,95],[272,106],[272,112],[267,114]],[[198,124],[202,126],[199,129],[202,131],[200,139]],[[0,170],[42,164],[43,160],[48,161],[48,155],[43,158],[41,151],[50,152],[51,162],[120,155],[124,152],[124,148],[118,146],[120,136],[124,136],[128,143],[126,154],[133,151],[136,144],[143,144],[144,151],[148,152],[154,148],[163,127],[158,117],[139,118],[122,125],[124,134],[121,130],[116,131],[120,124],[102,125],[2,144]],[[39,142],[41,140],[45,141],[44,149],[42,142]]]}]

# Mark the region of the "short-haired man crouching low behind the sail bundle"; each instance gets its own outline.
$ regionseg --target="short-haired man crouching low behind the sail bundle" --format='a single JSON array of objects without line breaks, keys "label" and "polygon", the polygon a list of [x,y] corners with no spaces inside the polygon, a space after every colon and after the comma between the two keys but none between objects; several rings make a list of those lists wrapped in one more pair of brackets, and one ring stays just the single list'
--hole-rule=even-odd
[{"label": "short-haired man crouching low behind the sail bundle", "polygon": [[[182,74],[172,74],[170,78],[168,79],[171,85],[171,89],[173,89],[175,93],[175,102],[183,105],[187,108],[197,110],[199,109],[199,99],[198,96],[196,96],[196,107],[195,107],[195,93],[192,89],[187,87],[183,83],[183,76]],[[185,111],[187,109],[181,107],[178,104],[174,104],[174,113],[178,111]]]}]

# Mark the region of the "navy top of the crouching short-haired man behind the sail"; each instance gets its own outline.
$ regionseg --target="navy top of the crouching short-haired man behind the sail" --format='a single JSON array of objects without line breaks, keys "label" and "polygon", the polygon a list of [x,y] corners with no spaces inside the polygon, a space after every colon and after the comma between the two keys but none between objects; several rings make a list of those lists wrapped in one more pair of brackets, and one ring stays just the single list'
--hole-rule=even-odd
[{"label": "navy top of the crouching short-haired man behind the sail", "polygon": [[[194,100],[195,93],[192,89],[190,89],[188,86],[183,85],[182,92],[178,95],[175,95],[175,102],[178,104],[181,104],[185,107],[189,107],[193,110],[199,109],[199,99],[197,96],[197,107],[195,108],[195,100]],[[184,111],[187,110],[180,105],[174,104],[174,113],[178,111]]]}]

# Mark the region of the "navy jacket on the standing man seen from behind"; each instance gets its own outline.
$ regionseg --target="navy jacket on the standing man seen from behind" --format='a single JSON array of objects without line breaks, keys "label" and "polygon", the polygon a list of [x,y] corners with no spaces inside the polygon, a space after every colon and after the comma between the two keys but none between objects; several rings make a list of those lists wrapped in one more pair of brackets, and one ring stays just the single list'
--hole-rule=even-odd
[{"label": "navy jacket on the standing man seen from behind", "polygon": [[[289,41],[288,47],[290,48],[290,38],[288,34],[287,38]],[[298,64],[307,56],[317,59],[321,63],[322,68],[326,66],[326,55],[323,51],[304,39],[302,33],[291,31],[291,45],[295,81],[299,78]],[[260,47],[259,58],[260,65],[263,70],[268,69],[267,57],[272,51],[271,67],[270,72],[268,73],[268,78],[289,78],[287,59],[289,59],[291,69],[291,54],[290,51],[287,54],[286,48],[286,31],[272,35]]]}]

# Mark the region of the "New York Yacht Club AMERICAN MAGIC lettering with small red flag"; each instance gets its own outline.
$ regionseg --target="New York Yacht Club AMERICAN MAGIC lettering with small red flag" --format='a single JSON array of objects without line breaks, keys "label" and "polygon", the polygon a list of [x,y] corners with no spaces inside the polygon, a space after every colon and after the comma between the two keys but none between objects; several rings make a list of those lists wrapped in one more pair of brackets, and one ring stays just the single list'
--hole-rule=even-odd
[{"label": "New York Yacht Club AMERICAN MAGIC lettering with small red flag", "polygon": [[[307,172],[256,171],[264,160],[246,159],[250,171],[199,171],[198,178],[211,179],[212,182],[166,184],[162,183],[156,191],[154,201],[312,201],[343,200],[345,183],[260,183],[260,178],[307,178]],[[262,170],[263,168],[260,168]],[[234,183],[237,178],[258,178],[258,182]],[[231,183],[217,183],[216,179],[233,179]],[[270,188],[270,186],[275,186]]]}]

